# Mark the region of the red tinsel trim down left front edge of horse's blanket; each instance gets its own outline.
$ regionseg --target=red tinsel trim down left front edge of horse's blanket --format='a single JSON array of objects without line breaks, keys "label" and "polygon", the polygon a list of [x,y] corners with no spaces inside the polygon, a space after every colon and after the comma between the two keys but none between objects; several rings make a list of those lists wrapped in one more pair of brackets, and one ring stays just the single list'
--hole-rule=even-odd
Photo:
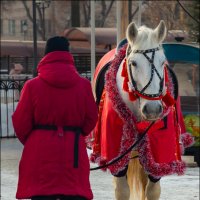
[{"label": "red tinsel trim down left front edge of horse's blanket", "polygon": [[[105,90],[108,92],[108,97],[113,103],[113,108],[118,113],[119,117],[124,121],[123,126],[123,136],[120,145],[120,150],[118,156],[126,151],[128,147],[130,147],[135,140],[137,139],[137,130],[135,128],[135,123],[137,122],[133,113],[129,110],[126,104],[123,102],[118,88],[116,84],[117,71],[119,69],[120,64],[122,63],[125,53],[126,53],[127,45],[124,45],[115,59],[112,61],[109,70],[105,75]],[[125,71],[123,72],[125,74]],[[130,140],[131,138],[131,140]],[[123,170],[129,162],[130,153],[124,156],[117,163],[109,166],[109,170],[112,174],[117,174],[119,171]],[[110,162],[110,160],[109,160]]]}]

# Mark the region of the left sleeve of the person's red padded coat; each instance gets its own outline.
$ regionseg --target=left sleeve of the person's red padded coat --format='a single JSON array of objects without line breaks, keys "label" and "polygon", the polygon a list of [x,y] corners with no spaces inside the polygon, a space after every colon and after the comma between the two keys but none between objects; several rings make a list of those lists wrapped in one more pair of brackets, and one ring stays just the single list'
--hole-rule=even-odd
[{"label": "left sleeve of the person's red padded coat", "polygon": [[30,93],[30,82],[27,81],[22,89],[17,108],[12,115],[14,130],[22,144],[25,144],[33,127],[33,104]]}]

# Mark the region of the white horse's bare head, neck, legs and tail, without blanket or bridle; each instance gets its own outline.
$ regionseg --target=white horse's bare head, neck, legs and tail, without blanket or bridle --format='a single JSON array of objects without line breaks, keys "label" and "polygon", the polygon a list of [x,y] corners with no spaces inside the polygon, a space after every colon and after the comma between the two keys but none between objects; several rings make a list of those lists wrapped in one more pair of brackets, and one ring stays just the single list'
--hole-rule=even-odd
[{"label": "white horse's bare head, neck, legs and tail, without blanket or bridle", "polygon": [[[128,70],[129,79],[132,79],[132,81],[135,82],[135,86],[137,88],[134,89],[137,89],[140,92],[142,91],[141,93],[150,95],[160,95],[160,92],[164,92],[164,88],[160,88],[160,82],[164,77],[164,63],[166,62],[166,57],[163,50],[160,48],[160,44],[165,39],[166,32],[166,26],[163,21],[161,21],[161,23],[155,30],[151,30],[146,27],[141,27],[140,29],[137,29],[135,23],[131,23],[127,28],[126,38],[128,40],[128,48],[126,51],[126,59],[127,65],[130,66],[131,69],[131,71]],[[148,58],[152,59],[152,54],[155,54],[154,59],[152,59],[152,62],[155,66],[156,71],[153,71],[153,75],[151,61],[149,61],[149,59],[145,59],[144,54],[142,52],[137,53],[137,50],[144,50],[145,52],[145,50],[151,49],[153,50],[147,52],[146,55],[148,56]],[[126,94],[126,91],[124,91],[122,87],[123,79],[121,77],[121,71],[122,65],[120,66],[117,73],[117,87],[123,101],[126,103],[128,108],[135,114],[137,119],[157,120],[162,114],[163,110],[161,100],[148,100],[146,98],[140,98],[140,100],[137,100],[134,103],[131,102],[129,100],[128,95]],[[132,81],[130,81],[130,83]],[[133,82],[131,87],[134,87]],[[160,89],[162,89],[162,91],[160,91]],[[147,197],[148,200],[158,200],[161,191],[160,181],[158,180],[155,183],[151,180],[147,181],[147,176],[139,167],[138,159],[132,160],[131,162],[132,164],[130,163],[130,166],[132,166],[133,168],[133,166],[136,165],[135,168],[137,168],[137,171],[136,169],[130,170],[131,167],[129,167],[128,177],[134,177],[132,173],[134,173],[137,176],[141,176],[141,178],[139,179],[135,177],[136,180],[134,182],[133,179],[128,180],[129,185],[132,185],[131,188],[133,188],[133,186],[136,187],[135,190],[138,190],[140,188],[140,199],[145,199],[145,197]],[[141,180],[142,182],[139,183],[139,180]],[[127,184],[126,177],[115,178],[115,181],[116,199],[129,200],[129,186]],[[141,187],[139,187],[138,184],[141,184]],[[145,195],[143,191],[145,191]],[[136,196],[136,194],[136,192],[132,192],[132,196]],[[132,199],[136,199],[136,197],[133,197]]]}]

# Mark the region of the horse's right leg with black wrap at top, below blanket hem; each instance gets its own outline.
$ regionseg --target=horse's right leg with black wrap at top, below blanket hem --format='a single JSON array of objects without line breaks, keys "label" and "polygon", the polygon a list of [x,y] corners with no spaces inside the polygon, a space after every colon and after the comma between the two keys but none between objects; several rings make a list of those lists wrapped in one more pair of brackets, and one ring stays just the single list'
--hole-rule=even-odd
[{"label": "horse's right leg with black wrap at top, below blanket hem", "polygon": [[148,200],[159,200],[160,199],[160,179],[155,179],[149,176],[148,183],[146,186],[145,195]]}]

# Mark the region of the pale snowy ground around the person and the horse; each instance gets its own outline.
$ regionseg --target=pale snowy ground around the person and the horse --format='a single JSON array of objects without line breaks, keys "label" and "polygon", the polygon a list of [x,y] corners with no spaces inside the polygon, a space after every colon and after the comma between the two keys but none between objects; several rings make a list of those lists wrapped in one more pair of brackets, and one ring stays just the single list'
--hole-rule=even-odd
[{"label": "pale snowy ground around the person and the horse", "polygon": [[[15,199],[21,150],[17,139],[1,140],[1,200]],[[109,173],[92,171],[91,186],[94,200],[114,200],[112,176]],[[199,168],[188,168],[184,176],[164,177],[161,187],[160,200],[199,200]]]}]

